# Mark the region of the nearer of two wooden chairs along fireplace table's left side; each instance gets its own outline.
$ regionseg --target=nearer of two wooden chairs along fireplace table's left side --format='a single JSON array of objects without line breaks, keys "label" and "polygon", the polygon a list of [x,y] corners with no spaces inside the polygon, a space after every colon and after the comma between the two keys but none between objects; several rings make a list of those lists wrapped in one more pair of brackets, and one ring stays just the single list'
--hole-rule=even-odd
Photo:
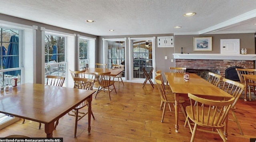
[{"label": "nearer of two wooden chairs along fireplace table's left side", "polygon": [[[170,94],[170,95],[168,94],[168,96],[166,96],[166,92],[164,90],[164,84],[161,81],[161,75],[157,75],[155,77],[155,82],[158,86],[158,90],[159,90],[161,101],[162,101],[160,109],[162,108],[162,104],[164,103],[162,119],[161,119],[161,122],[164,122],[164,113],[165,113],[165,109],[166,109],[166,104],[168,104],[169,109],[170,109],[171,112],[175,112],[175,111],[172,111],[171,106],[170,106],[170,103],[175,104],[175,99],[174,99],[175,96],[174,96],[174,94]],[[186,112],[185,112],[184,107],[182,105],[184,102],[185,102],[184,98],[180,97],[180,100],[179,100],[180,108],[181,108],[181,110],[184,113],[184,116],[186,118]]]}]

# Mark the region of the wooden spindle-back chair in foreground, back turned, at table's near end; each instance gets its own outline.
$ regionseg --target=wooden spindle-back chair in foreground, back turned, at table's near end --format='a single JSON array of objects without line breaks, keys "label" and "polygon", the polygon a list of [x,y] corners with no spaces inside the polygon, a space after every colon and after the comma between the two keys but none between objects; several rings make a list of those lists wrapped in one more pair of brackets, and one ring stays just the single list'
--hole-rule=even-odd
[{"label": "wooden spindle-back chair in foreground, back turned, at table's near end", "polygon": [[[225,125],[224,123],[226,120],[226,116],[228,116],[228,112],[231,108],[232,103],[234,103],[235,98],[232,98],[228,101],[214,101],[196,97],[190,93],[188,93],[188,97],[190,98],[190,106],[186,107],[186,120],[188,121],[189,118],[192,122],[195,123],[193,129],[191,124],[188,123],[190,131],[192,133],[190,142],[194,141],[197,126],[216,129],[222,140],[226,142],[226,138],[223,134],[222,128]],[[196,106],[194,106],[193,104],[194,101],[197,102]],[[200,103],[200,105],[198,103]],[[202,106],[201,103],[203,104]],[[210,130],[203,131],[217,133]]]}]

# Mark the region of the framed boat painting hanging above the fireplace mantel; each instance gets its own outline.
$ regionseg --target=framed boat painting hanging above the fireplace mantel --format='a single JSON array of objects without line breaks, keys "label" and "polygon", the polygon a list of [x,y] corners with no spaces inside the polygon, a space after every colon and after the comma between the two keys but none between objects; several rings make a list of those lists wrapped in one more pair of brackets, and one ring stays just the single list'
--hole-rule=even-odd
[{"label": "framed boat painting hanging above the fireplace mantel", "polygon": [[194,51],[212,51],[212,37],[194,37]]}]

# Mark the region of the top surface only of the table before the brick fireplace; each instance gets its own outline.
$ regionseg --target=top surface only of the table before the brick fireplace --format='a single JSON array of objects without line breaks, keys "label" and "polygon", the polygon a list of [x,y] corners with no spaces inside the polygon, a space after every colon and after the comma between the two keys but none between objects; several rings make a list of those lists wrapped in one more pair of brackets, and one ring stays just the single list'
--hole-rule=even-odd
[{"label": "top surface only of the table before the brick fireplace", "polygon": [[194,73],[189,74],[189,81],[184,80],[184,73],[164,73],[173,93],[200,95],[205,97],[232,98],[222,89],[212,85]]}]

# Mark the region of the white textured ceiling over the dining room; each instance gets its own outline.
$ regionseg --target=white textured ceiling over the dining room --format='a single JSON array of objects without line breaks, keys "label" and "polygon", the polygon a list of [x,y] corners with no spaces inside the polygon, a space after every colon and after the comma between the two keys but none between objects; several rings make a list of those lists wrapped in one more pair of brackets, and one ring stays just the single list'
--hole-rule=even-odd
[{"label": "white textured ceiling over the dining room", "polygon": [[0,13],[96,36],[256,32],[256,0],[0,0]]}]

